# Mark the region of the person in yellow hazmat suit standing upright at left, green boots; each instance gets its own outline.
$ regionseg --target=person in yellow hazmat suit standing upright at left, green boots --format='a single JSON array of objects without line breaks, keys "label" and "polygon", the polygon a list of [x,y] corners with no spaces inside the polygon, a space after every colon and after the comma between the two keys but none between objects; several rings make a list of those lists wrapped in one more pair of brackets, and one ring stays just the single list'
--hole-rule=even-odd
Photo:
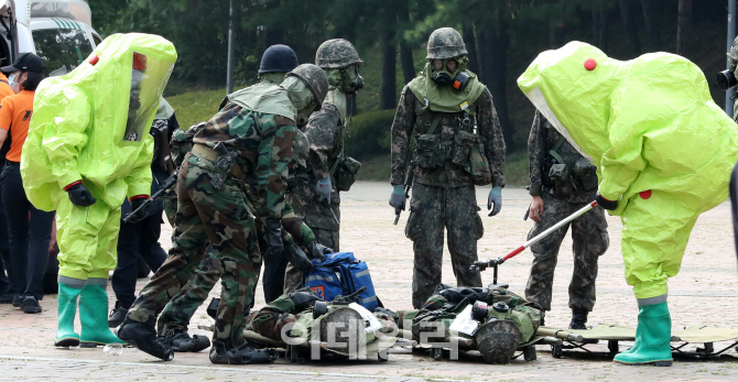
[{"label": "person in yellow hazmat suit standing upright at left, green boots", "polygon": [[[56,210],[58,347],[121,342],[107,325],[106,292],[120,206],[128,197],[134,210],[149,198],[149,128],[176,57],[161,36],[115,34],[36,90],[21,174],[31,203]],[[74,331],[77,299],[82,335]]]}]

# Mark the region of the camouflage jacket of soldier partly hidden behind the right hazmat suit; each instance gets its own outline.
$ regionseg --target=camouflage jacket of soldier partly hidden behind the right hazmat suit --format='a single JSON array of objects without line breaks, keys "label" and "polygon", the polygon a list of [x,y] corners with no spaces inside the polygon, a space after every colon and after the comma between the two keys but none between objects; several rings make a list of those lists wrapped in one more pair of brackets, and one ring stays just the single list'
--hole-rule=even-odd
[{"label": "camouflage jacket of soldier partly hidden behind the right hazmat suit", "polygon": [[[567,185],[560,186],[557,179],[550,177],[551,167],[558,163],[551,151],[555,148],[556,142],[561,139],[558,131],[543,117],[539,111],[535,111],[533,118],[533,125],[528,138],[528,156],[530,161],[530,178],[531,178],[531,195],[542,195],[550,193],[554,197],[568,203],[588,203],[595,199],[597,194],[597,175],[596,167],[582,156],[577,150],[566,140],[563,140],[556,153],[562,156],[566,164],[566,173],[568,176]],[[579,171],[585,183],[589,187],[583,186],[583,179],[577,174],[574,174],[575,168],[584,167],[585,172]],[[554,184],[556,183],[556,185]],[[592,186],[595,185],[594,188]],[[554,189],[555,188],[555,189]],[[584,189],[589,188],[589,189]]]}]

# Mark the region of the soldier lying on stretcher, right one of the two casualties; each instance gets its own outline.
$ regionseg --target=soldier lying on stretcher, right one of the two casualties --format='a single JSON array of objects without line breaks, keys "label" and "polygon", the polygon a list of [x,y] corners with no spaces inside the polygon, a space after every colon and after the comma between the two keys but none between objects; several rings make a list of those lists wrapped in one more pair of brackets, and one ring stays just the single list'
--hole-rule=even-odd
[{"label": "soldier lying on stretcher, right one of the two casualties", "polygon": [[[415,340],[423,339],[422,331],[435,331],[437,335],[428,336],[428,340],[447,342],[451,324],[475,302],[486,303],[488,313],[484,317],[473,317],[480,324],[474,335],[459,332],[458,336],[474,339],[471,349],[479,350],[487,362],[510,362],[518,346],[530,341],[535,335],[541,325],[541,313],[535,303],[504,287],[451,287],[439,284],[420,309],[398,310],[394,319],[399,328],[411,330]],[[428,330],[437,323],[442,325],[443,331]],[[442,334],[445,337],[438,338]]]}]

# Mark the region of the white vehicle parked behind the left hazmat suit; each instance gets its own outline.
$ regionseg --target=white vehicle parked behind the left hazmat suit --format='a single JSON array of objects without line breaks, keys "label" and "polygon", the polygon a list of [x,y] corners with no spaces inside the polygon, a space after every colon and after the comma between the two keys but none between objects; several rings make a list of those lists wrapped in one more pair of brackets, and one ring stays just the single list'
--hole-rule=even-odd
[{"label": "white vehicle parked behind the left hazmat suit", "polygon": [[0,65],[32,52],[46,76],[74,70],[102,41],[85,0],[0,0]]}]

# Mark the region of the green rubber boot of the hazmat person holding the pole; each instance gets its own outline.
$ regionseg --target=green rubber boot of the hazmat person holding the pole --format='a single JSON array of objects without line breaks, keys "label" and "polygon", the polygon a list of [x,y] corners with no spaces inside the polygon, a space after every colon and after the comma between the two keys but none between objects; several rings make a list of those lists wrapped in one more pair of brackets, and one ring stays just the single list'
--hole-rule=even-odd
[{"label": "green rubber boot of the hazmat person holding the pole", "polygon": [[615,362],[622,364],[672,365],[672,319],[666,302],[641,305],[638,312],[636,345],[629,352],[615,356]]}]

